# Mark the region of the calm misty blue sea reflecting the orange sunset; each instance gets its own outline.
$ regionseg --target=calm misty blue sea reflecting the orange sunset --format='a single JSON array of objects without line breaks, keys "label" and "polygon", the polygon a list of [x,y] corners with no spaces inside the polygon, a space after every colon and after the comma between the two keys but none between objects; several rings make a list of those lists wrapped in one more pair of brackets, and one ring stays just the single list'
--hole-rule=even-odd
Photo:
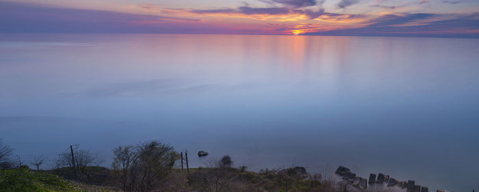
[{"label": "calm misty blue sea reflecting the orange sunset", "polygon": [[[0,131],[28,161],[160,139],[235,165],[479,180],[479,40],[0,35]],[[205,159],[192,155],[191,164]]]}]

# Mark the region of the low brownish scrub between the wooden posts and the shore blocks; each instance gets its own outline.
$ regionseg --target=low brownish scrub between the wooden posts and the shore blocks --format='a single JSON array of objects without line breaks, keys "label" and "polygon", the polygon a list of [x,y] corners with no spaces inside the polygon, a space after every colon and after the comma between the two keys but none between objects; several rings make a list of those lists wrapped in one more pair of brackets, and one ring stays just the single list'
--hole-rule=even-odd
[{"label": "low brownish scrub between the wooden posts and the shore blocks", "polygon": [[298,172],[296,167],[283,170],[263,170],[248,172],[245,167],[198,168],[190,176],[190,186],[194,191],[338,191],[334,183]]}]

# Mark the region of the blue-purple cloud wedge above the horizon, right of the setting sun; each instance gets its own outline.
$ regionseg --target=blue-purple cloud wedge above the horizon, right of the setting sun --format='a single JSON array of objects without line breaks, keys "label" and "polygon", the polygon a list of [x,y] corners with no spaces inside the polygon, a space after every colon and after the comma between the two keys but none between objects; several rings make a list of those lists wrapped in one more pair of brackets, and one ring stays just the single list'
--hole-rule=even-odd
[{"label": "blue-purple cloud wedge above the horizon, right of the setting sun", "polygon": [[479,13],[475,14],[388,14],[370,25],[305,33],[322,36],[413,36],[438,38],[479,38]]}]

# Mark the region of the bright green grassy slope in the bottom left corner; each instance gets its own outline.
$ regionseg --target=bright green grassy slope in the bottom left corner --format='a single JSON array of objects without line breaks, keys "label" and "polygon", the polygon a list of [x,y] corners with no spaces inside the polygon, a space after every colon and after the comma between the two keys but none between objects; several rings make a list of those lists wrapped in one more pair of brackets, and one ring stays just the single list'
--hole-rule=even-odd
[{"label": "bright green grassy slope in the bottom left corner", "polygon": [[0,191],[2,192],[88,192],[109,191],[102,187],[71,182],[44,172],[34,172],[27,168],[0,170]]}]

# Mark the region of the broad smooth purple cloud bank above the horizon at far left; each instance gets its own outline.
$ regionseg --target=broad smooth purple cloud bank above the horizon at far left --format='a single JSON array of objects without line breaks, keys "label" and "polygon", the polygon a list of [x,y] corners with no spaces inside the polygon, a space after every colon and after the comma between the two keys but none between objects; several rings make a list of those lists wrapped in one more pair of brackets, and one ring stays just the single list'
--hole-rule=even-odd
[{"label": "broad smooth purple cloud bank above the horizon at far left", "polygon": [[0,33],[175,33],[190,31],[195,23],[191,18],[0,2]]}]

